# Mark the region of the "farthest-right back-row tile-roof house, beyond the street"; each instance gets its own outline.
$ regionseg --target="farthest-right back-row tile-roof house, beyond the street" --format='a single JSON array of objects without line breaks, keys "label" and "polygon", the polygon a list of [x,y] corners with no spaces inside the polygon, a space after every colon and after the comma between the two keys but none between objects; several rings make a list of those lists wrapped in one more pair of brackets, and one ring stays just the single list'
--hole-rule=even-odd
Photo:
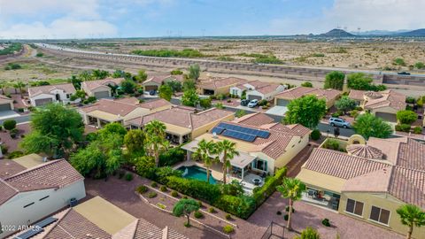
[{"label": "farthest-right back-row tile-roof house, beyond the street", "polygon": [[406,96],[392,89],[380,92],[351,90],[348,96],[363,109],[391,122],[397,122],[397,112],[406,109]]}]

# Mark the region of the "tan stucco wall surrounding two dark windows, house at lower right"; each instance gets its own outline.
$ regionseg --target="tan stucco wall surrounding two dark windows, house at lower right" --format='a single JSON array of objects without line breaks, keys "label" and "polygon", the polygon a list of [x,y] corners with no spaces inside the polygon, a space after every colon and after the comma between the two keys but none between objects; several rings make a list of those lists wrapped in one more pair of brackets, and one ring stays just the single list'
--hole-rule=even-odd
[{"label": "tan stucco wall surrounding two dark windows, house at lower right", "polygon": [[[362,202],[364,204],[363,214],[361,217],[345,212],[347,198]],[[404,203],[398,200],[397,198],[392,197],[385,193],[344,192],[341,196],[341,201],[339,204],[338,211],[349,217],[352,217],[358,220],[365,220],[368,223],[371,223],[375,226],[384,227],[390,230],[394,230],[403,235],[406,235],[407,227],[401,224],[398,213],[396,212],[398,207],[403,204]],[[389,226],[385,226],[381,223],[376,223],[374,220],[369,220],[372,205],[375,205],[379,208],[383,208],[385,210],[390,211]],[[413,228],[413,238],[418,238],[418,239],[423,238],[423,235],[425,235],[425,227]]]}]

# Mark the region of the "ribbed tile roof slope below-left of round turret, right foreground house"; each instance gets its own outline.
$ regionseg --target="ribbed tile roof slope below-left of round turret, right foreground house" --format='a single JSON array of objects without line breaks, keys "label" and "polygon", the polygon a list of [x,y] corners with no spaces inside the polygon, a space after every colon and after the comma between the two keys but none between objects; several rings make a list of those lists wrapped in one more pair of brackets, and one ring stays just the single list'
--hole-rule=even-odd
[{"label": "ribbed tile roof slope below-left of round turret, right foreground house", "polygon": [[322,148],[314,149],[305,162],[305,169],[346,180],[365,173],[374,172],[386,166],[388,164]]}]

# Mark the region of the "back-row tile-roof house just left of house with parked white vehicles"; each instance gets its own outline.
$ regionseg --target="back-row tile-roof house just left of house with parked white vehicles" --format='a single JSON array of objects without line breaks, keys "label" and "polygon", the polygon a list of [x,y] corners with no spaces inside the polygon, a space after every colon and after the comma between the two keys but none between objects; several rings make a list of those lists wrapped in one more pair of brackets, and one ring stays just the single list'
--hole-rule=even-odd
[{"label": "back-row tile-roof house just left of house with parked white vehicles", "polygon": [[226,95],[231,87],[246,82],[248,81],[237,77],[211,78],[201,81],[197,86],[197,92],[201,95]]}]

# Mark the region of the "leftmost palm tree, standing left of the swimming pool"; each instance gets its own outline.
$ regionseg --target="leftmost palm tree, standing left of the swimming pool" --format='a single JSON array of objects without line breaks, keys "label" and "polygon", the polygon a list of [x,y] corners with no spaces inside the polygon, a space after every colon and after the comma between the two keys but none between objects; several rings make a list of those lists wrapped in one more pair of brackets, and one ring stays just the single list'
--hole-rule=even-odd
[{"label": "leftmost palm tree, standing left of the swimming pool", "polygon": [[159,153],[169,146],[166,140],[166,125],[158,120],[152,120],[144,127],[146,134],[146,151],[155,158],[155,165],[159,166]]}]

